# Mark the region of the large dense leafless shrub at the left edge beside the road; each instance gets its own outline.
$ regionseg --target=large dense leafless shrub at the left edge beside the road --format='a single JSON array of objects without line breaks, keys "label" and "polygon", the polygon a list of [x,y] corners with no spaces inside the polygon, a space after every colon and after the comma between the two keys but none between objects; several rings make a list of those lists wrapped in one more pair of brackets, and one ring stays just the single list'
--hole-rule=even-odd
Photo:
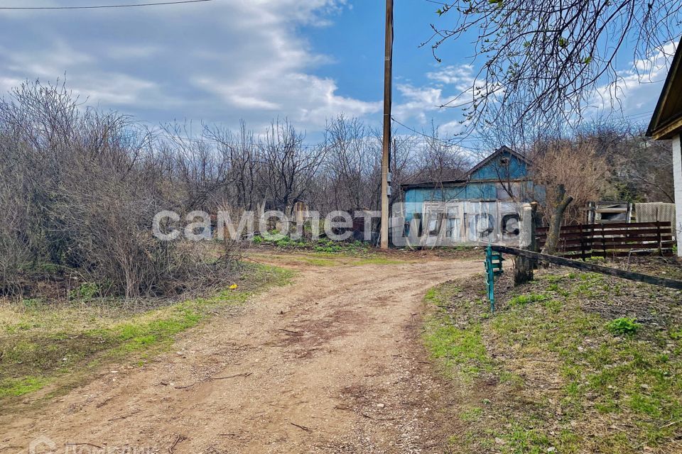
[{"label": "large dense leafless shrub at the left edge beside the road", "polygon": [[222,161],[201,147],[150,146],[147,131],[119,114],[78,109],[63,86],[26,83],[1,101],[4,292],[20,292],[21,272],[41,263],[126,298],[202,276],[207,255],[155,238],[152,218],[204,202],[225,183]]}]

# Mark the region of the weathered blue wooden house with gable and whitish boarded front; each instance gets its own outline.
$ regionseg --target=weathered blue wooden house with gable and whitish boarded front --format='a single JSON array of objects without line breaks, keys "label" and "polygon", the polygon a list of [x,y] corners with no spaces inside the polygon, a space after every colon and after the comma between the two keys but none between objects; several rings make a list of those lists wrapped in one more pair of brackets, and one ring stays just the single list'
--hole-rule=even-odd
[{"label": "weathered blue wooden house with gable and whitish boarded front", "polygon": [[413,245],[517,243],[521,204],[536,191],[529,164],[502,147],[458,179],[403,184],[405,235]]}]

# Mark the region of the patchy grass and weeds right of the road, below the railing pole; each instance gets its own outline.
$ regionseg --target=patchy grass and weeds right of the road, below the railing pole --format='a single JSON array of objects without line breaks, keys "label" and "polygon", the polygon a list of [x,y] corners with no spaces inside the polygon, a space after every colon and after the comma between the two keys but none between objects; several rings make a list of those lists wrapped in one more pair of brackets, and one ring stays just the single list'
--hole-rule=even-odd
[{"label": "patchy grass and weeds right of the road, below the railing pole", "polygon": [[482,278],[427,295],[426,345],[463,389],[453,445],[681,452],[682,293],[561,269],[516,289],[510,281],[498,284],[494,315]]}]

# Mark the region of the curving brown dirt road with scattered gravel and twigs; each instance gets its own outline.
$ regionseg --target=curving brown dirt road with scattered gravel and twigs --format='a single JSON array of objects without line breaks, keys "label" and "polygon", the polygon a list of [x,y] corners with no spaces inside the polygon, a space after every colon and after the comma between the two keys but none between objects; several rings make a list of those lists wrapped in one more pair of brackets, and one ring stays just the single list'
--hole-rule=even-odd
[{"label": "curving brown dirt road with scattered gravel and twigs", "polygon": [[[454,428],[418,336],[428,287],[479,262],[299,267],[293,284],[185,334],[143,368],[103,370],[0,453],[431,453]],[[97,448],[99,447],[99,448]]]}]

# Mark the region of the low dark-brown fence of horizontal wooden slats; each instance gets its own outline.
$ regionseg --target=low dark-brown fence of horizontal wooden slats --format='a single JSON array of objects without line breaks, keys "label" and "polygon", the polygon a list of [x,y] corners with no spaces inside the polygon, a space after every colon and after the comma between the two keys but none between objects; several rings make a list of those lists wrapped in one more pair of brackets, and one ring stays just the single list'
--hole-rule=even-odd
[{"label": "low dark-brown fence of horizontal wooden slats", "polygon": [[[547,239],[547,228],[536,229],[538,246]],[[562,226],[556,255],[588,258],[594,255],[673,255],[670,222],[596,223]]]}]

